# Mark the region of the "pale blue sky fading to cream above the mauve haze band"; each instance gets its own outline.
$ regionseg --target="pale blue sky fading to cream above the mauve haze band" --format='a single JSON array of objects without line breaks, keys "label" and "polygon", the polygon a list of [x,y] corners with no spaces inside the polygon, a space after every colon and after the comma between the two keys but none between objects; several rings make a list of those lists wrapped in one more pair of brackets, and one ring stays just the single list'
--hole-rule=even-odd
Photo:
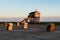
[{"label": "pale blue sky fading to cream above the mauve haze band", "polygon": [[0,18],[27,17],[32,11],[42,17],[59,17],[60,0],[0,0]]}]

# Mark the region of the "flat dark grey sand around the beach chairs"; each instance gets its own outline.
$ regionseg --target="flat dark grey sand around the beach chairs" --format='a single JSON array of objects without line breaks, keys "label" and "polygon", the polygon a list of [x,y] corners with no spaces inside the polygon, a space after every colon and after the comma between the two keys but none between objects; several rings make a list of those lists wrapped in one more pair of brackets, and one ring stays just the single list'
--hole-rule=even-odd
[{"label": "flat dark grey sand around the beach chairs", "polygon": [[0,25],[0,40],[60,40],[60,25],[55,26],[54,32],[46,32],[46,25],[29,25],[27,30],[17,29],[7,31]]}]

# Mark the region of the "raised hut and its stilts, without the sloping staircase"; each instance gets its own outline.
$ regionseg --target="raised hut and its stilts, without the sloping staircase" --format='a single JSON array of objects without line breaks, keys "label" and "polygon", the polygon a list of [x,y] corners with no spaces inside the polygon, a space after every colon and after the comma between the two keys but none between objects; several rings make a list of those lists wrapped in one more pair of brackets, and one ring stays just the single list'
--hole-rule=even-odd
[{"label": "raised hut and its stilts, without the sloping staircase", "polygon": [[30,23],[39,23],[40,20],[40,12],[34,11],[29,13],[28,18],[31,17]]}]

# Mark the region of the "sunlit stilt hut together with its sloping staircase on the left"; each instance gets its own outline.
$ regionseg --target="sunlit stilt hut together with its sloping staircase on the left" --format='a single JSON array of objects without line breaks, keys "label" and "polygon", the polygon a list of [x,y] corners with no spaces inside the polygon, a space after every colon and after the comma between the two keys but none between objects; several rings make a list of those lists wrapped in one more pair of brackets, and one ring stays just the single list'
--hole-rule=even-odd
[{"label": "sunlit stilt hut together with its sloping staircase on the left", "polygon": [[39,23],[40,20],[40,12],[34,11],[29,13],[28,17],[21,21],[21,23]]}]

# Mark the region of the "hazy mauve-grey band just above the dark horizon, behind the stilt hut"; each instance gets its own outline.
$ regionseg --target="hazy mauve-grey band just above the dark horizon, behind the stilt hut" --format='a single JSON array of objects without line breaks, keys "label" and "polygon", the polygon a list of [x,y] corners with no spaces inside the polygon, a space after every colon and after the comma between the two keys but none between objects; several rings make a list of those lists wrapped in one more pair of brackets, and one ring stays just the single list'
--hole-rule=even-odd
[{"label": "hazy mauve-grey band just above the dark horizon, behind the stilt hut", "polygon": [[[24,20],[24,17],[21,18],[0,18],[0,22],[21,22]],[[60,17],[41,17],[40,22],[60,22]]]}]

